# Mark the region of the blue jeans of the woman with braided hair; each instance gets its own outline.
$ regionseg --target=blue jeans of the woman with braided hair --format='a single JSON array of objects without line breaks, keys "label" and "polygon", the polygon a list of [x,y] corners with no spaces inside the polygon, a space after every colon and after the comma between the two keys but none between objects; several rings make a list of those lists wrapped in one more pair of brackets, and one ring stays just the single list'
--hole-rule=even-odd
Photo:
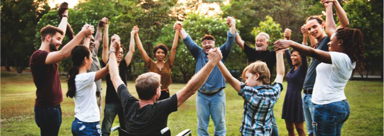
[{"label": "blue jeans of the woman with braided hair", "polygon": [[347,100],[314,105],[313,129],[316,136],[340,136],[341,127],[349,117]]}]

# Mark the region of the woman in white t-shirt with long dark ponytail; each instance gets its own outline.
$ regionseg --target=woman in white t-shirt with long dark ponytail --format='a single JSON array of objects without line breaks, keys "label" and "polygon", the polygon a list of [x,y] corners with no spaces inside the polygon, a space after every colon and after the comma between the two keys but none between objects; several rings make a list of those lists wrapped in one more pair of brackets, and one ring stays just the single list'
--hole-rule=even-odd
[{"label": "woman in white t-shirt with long dark ponytail", "polygon": [[[85,40],[89,39],[86,38]],[[115,46],[117,46],[115,43],[119,42],[118,36],[112,36],[111,41],[111,51],[114,51]],[[74,136],[101,136],[100,111],[96,102],[95,81],[109,73],[109,65],[107,64],[106,67],[96,72],[87,73],[92,64],[92,58],[89,48],[83,45],[75,46],[72,49],[71,60],[73,65],[68,72],[66,96],[73,98],[75,104],[75,119],[71,127],[72,134]]]}]

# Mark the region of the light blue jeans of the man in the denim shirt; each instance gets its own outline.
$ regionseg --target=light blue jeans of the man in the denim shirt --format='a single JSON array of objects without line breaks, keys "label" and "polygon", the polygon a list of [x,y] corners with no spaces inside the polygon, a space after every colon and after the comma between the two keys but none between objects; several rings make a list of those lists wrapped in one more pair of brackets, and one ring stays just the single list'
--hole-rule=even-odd
[{"label": "light blue jeans of the man in the denim shirt", "polygon": [[196,96],[197,111],[197,134],[199,136],[209,136],[208,125],[209,116],[215,125],[215,136],[225,136],[225,93],[224,90],[215,95],[207,96],[197,91]]}]

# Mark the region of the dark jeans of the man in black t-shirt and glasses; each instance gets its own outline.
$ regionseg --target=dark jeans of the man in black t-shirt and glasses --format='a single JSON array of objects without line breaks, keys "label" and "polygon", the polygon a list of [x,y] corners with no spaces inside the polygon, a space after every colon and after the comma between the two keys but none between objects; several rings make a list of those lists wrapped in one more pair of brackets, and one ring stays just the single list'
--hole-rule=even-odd
[{"label": "dark jeans of the man in black t-shirt and glasses", "polygon": [[[101,125],[101,132],[103,132],[103,136],[109,136],[111,134],[111,127],[116,115],[119,116],[119,123],[121,129],[125,130],[126,127],[124,122],[124,111],[122,109],[121,103],[105,103],[104,119],[103,124]],[[124,131],[119,131],[119,136],[126,135],[127,133],[125,133]]]}]

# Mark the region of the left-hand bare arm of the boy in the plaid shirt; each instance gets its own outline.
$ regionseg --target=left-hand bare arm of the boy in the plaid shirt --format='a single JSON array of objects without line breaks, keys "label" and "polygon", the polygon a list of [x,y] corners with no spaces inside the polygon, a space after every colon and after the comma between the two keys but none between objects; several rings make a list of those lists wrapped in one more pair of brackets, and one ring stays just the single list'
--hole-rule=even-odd
[{"label": "left-hand bare arm of the boy in the plaid shirt", "polygon": [[241,82],[235,77],[232,77],[231,73],[228,71],[227,67],[224,66],[223,62],[218,62],[217,66],[221,74],[223,74],[225,81],[227,81],[237,92],[240,92]]}]

